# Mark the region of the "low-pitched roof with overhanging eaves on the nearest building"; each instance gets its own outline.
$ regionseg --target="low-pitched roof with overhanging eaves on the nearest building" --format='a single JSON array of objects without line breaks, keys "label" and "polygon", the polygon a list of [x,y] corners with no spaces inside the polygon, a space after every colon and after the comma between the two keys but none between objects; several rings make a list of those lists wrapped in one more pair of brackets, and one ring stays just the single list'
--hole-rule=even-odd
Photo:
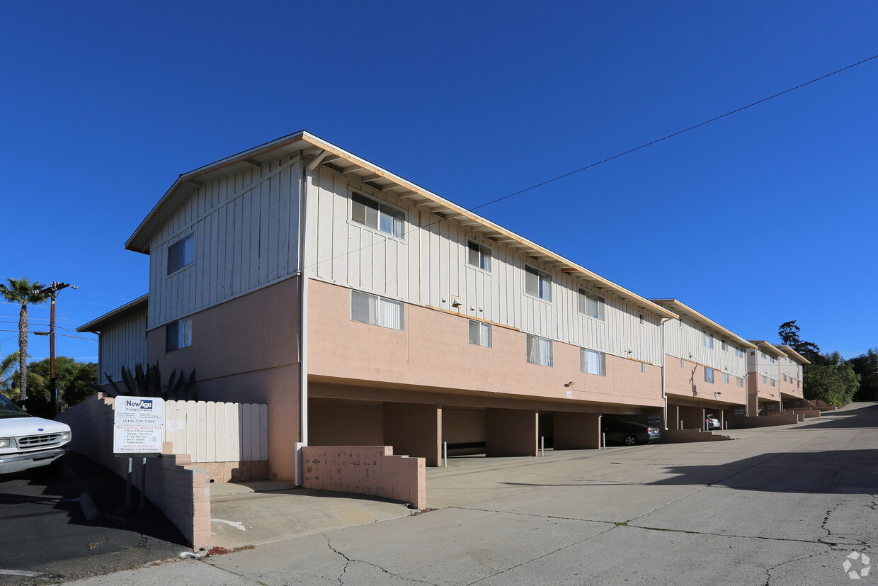
[{"label": "low-pitched roof with overhanging eaves on the nearest building", "polygon": [[184,173],[171,185],[168,192],[155,205],[146,219],[140,222],[140,226],[128,238],[128,242],[125,245],[126,249],[148,254],[151,236],[156,230],[161,228],[165,221],[168,221],[170,215],[180,204],[198,190],[202,182],[234,172],[234,170],[252,168],[266,161],[277,160],[284,156],[295,156],[299,153],[302,154],[305,163],[325,165],[329,169],[355,177],[361,183],[369,185],[380,192],[407,200],[408,203],[414,206],[421,206],[430,213],[435,213],[445,220],[458,221],[462,227],[477,232],[488,240],[513,248],[533,260],[548,264],[551,268],[570,275],[573,279],[587,284],[599,293],[612,293],[616,298],[629,302],[634,307],[643,309],[652,315],[659,315],[660,317],[677,316],[666,308],[660,307],[608,279],[604,279],[597,273],[589,271],[585,267],[573,263],[551,250],[545,249],[535,242],[530,242],[528,239],[510,230],[486,220],[486,218],[477,213],[472,213],[464,207],[457,206],[448,199],[429,192],[420,185],[394,175],[390,171],[382,169],[342,148],[336,147],[334,144],[324,141],[305,130],[289,134],[276,141],[267,142],[237,155],[229,156],[215,163]]}]

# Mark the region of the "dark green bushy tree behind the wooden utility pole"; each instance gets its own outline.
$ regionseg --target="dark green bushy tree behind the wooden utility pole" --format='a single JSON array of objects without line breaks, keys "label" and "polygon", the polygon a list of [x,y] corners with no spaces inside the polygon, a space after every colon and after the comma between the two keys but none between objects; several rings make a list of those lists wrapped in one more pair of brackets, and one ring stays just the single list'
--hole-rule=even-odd
[{"label": "dark green bushy tree behind the wooden utility pole", "polygon": [[[40,382],[32,382],[25,407],[33,415],[49,414],[54,417],[54,413],[50,413],[53,409],[52,394],[49,389],[52,362],[49,358],[44,358],[32,362],[30,369],[31,373],[40,377]],[[97,383],[97,363],[77,362],[76,359],[68,356],[55,357],[55,379],[55,385],[58,387],[58,409],[69,409],[95,393],[89,384]]]}]

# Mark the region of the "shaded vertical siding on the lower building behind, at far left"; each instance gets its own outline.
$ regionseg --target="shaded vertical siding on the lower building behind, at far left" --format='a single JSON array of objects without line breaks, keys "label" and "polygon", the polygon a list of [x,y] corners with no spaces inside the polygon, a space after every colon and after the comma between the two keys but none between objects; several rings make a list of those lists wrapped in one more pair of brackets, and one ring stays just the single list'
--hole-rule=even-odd
[{"label": "shaded vertical siding on the lower building behind, at far left", "polygon": [[101,330],[98,351],[98,384],[109,382],[106,375],[119,382],[122,367],[133,371],[135,365],[147,364],[147,310],[126,315]]}]

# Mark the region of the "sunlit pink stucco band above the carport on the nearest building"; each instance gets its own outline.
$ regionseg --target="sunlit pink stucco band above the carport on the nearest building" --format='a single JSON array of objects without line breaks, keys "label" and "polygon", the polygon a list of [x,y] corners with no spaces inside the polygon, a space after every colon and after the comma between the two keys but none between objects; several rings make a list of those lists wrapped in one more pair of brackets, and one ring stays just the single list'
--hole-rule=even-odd
[{"label": "sunlit pink stucco band above the carport on the nearest building", "polygon": [[[661,369],[607,356],[607,376],[580,372],[579,347],[554,346],[554,366],[529,364],[523,332],[493,326],[493,347],[468,343],[468,319],[406,306],[406,329],[350,320],[350,289],[309,285],[309,377],[359,385],[457,389],[528,398],[658,407]],[[573,381],[572,387],[565,383]]]}]

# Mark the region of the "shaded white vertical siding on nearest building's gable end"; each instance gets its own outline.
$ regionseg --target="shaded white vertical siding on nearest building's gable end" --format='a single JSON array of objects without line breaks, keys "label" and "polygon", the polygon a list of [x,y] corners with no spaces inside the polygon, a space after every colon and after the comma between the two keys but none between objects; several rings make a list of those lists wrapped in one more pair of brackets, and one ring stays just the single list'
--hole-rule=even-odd
[{"label": "shaded white vertical siding on nearest building's gable end", "polygon": [[[301,179],[294,157],[198,187],[150,242],[148,328],[295,274]],[[194,262],[168,275],[168,248],[190,234]]]}]

